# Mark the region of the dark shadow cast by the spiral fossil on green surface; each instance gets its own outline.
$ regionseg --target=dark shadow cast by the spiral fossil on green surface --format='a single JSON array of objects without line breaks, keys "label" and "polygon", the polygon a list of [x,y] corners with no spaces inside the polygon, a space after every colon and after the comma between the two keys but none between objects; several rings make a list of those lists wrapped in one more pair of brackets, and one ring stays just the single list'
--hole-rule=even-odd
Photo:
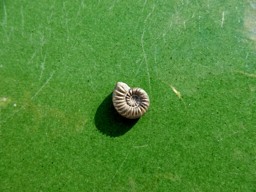
[{"label": "dark shadow cast by the spiral fossil on green surface", "polygon": [[122,117],[113,106],[112,93],[109,94],[98,107],[94,116],[96,128],[110,137],[118,137],[128,132],[138,119]]}]

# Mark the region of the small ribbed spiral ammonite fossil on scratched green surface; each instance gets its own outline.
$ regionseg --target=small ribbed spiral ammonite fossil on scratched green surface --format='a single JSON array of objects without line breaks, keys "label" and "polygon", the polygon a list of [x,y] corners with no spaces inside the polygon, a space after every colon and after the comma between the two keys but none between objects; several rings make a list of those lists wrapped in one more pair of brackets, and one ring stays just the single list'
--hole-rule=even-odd
[{"label": "small ribbed spiral ammonite fossil on scratched green surface", "polygon": [[130,119],[144,115],[149,107],[149,97],[141,88],[130,88],[123,82],[118,82],[114,88],[112,100],[117,112]]}]

